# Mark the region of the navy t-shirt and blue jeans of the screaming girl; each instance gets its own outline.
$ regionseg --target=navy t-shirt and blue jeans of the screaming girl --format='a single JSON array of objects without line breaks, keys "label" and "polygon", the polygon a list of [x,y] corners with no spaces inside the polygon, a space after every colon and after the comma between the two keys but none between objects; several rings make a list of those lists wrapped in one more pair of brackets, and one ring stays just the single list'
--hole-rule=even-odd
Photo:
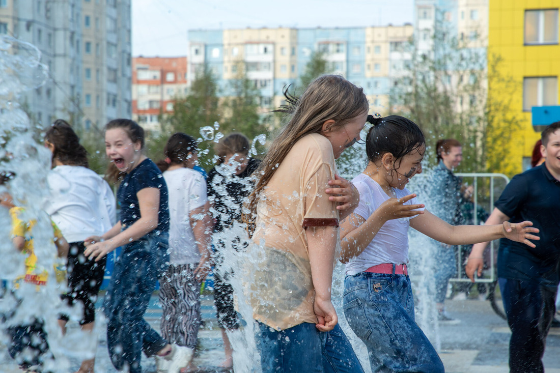
[{"label": "navy t-shirt and blue jeans of the screaming girl", "polygon": [[111,362],[118,370],[128,367],[130,373],[142,371],[142,351],[146,356],[152,356],[167,345],[167,341],[144,320],[156,281],[169,267],[167,185],[161,171],[148,158],[125,175],[119,186],[117,197],[123,230],[141,217],[137,193],[144,188],[160,190],[158,225],[123,247],[104,300]]}]

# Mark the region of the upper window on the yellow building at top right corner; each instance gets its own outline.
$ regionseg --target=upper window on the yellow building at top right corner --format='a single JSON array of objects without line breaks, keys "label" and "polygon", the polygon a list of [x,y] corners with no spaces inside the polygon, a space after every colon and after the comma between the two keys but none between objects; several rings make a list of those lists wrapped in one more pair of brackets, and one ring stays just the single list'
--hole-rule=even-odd
[{"label": "upper window on the yellow building at top right corner", "polygon": [[525,11],[525,44],[558,44],[558,9]]}]

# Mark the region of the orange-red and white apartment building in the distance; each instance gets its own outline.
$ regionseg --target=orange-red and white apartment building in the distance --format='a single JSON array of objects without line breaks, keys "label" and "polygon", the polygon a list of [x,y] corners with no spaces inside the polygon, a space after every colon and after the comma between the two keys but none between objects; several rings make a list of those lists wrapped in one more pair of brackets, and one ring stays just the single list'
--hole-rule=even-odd
[{"label": "orange-red and white apartment building in the distance", "polygon": [[132,119],[146,130],[161,130],[158,115],[173,111],[176,97],[187,94],[186,57],[132,59]]}]

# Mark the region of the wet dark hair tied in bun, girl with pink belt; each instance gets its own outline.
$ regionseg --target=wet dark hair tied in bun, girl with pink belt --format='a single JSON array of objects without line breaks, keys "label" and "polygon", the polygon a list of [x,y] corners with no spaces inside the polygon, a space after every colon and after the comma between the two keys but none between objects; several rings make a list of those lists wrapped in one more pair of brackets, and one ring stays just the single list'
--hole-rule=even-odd
[{"label": "wet dark hair tied in bun, girl with pink belt", "polygon": [[426,142],[420,127],[404,116],[389,115],[383,118],[368,115],[367,122],[371,128],[366,136],[366,154],[371,162],[380,160],[386,153],[391,153],[400,162],[402,157]]}]

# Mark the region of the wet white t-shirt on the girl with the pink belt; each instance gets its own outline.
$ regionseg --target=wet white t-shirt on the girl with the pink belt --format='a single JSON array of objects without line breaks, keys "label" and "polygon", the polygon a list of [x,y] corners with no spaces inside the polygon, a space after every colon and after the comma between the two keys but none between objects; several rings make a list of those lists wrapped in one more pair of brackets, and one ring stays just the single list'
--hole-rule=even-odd
[{"label": "wet white t-shirt on the girl with the pink belt", "polygon": [[[370,176],[360,174],[352,180],[352,183],[360,192],[360,204],[354,210],[367,220],[368,217],[390,197]],[[396,198],[402,198],[412,194],[408,189],[393,189]],[[413,198],[405,204],[418,204]],[[416,217],[415,215],[414,217]],[[410,218],[388,220],[377,232],[374,239],[367,245],[360,255],[349,260],[346,264],[346,274],[354,275],[365,271],[377,264],[408,263],[408,227]]]}]

